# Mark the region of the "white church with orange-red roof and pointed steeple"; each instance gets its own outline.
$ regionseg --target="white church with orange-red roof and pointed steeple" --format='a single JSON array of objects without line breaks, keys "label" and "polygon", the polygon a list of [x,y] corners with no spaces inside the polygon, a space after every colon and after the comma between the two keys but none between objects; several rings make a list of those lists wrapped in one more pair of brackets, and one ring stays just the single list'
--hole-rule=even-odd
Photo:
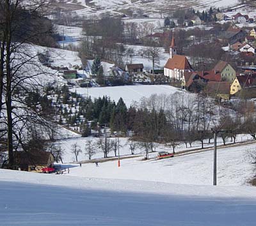
[{"label": "white church with orange-red roof and pointed steeple", "polygon": [[170,45],[170,58],[164,65],[164,75],[172,80],[183,80],[184,72],[192,72],[193,69],[186,56],[177,55],[177,46],[174,36]]}]

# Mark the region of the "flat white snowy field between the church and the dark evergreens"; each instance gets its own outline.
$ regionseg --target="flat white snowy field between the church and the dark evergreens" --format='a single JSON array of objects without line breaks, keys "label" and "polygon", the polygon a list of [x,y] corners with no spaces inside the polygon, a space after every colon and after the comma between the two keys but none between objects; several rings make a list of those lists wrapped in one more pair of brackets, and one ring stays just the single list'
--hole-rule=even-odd
[{"label": "flat white snowy field between the church and the dark evergreens", "polygon": [[[86,88],[74,88],[72,92],[78,94],[87,95]],[[109,96],[111,100],[118,102],[120,97],[123,98],[127,107],[132,105],[134,102],[140,102],[143,98],[148,98],[152,94],[173,94],[180,89],[173,86],[162,86],[162,85],[138,85],[138,86],[114,86],[114,87],[92,87],[88,88],[89,95],[92,98],[98,98],[102,96]],[[181,92],[181,91],[180,91]]]}]

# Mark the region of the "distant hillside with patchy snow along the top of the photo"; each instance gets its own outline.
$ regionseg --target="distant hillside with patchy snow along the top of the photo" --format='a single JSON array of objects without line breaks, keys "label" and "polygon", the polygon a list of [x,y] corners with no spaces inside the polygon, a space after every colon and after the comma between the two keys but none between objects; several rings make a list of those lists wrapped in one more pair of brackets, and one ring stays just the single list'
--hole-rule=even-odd
[{"label": "distant hillside with patchy snow along the top of the photo", "polygon": [[121,14],[130,10],[136,13],[136,10],[143,10],[143,13],[150,17],[160,17],[180,8],[195,8],[196,10],[206,10],[210,6],[216,8],[228,8],[241,4],[241,0],[93,0],[87,5],[84,0],[50,0],[54,7],[60,7],[65,11],[76,11],[77,15],[90,16],[100,13]]}]

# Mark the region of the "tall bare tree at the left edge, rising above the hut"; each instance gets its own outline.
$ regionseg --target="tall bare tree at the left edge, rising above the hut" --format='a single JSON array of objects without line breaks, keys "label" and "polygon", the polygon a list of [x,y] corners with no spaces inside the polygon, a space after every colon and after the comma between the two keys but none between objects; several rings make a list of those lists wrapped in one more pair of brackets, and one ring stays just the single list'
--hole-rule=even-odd
[{"label": "tall bare tree at the left edge, rising above the hut", "polygon": [[19,130],[24,130],[24,124],[38,116],[36,109],[24,105],[24,93],[38,84],[36,76],[47,74],[42,73],[38,53],[29,45],[40,45],[38,40],[44,39],[51,29],[44,27],[44,6],[44,0],[0,1],[0,114],[4,110],[0,119],[10,169],[14,163],[13,149],[17,148],[15,139],[20,135]]}]

